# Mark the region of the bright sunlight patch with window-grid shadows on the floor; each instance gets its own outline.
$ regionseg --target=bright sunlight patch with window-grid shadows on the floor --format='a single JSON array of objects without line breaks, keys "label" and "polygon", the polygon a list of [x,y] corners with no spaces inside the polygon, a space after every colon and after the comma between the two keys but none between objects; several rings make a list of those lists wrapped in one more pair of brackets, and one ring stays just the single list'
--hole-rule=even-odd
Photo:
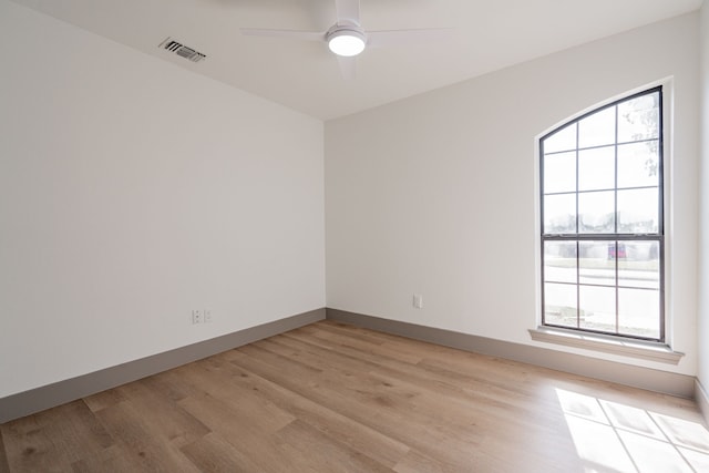
[{"label": "bright sunlight patch with window-grid shadows on the floor", "polygon": [[586,472],[709,471],[709,431],[697,422],[557,389]]}]

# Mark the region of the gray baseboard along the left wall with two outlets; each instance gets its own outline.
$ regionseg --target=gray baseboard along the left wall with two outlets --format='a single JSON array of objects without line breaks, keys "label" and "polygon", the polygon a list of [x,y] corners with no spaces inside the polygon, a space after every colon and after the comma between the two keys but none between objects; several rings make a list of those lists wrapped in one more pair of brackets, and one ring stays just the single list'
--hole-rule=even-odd
[{"label": "gray baseboard along the left wall with two outlets", "polygon": [[325,308],[316,309],[89,374],[8,395],[7,398],[0,399],[0,423],[282,333],[322,320],[325,317]]}]

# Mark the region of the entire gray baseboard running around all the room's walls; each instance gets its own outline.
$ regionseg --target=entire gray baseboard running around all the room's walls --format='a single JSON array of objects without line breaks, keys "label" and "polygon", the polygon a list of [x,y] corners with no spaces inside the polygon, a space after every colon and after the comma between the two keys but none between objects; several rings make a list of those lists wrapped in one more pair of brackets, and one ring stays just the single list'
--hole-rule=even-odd
[{"label": "entire gray baseboard running around all the room's walls", "polygon": [[709,424],[709,398],[695,377],[598,360],[573,353],[562,353],[559,356],[561,352],[556,350],[329,308],[287,317],[2,398],[0,399],[0,423],[177,368],[325,318],[431,343],[695,399]]}]

